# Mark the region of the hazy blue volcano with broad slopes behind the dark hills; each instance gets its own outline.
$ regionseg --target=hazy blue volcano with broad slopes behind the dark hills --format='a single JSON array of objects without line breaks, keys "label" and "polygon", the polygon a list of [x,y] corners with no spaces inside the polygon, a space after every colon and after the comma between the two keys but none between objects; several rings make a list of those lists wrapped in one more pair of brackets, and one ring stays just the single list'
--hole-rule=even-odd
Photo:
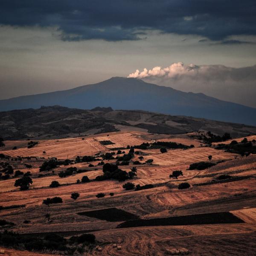
[{"label": "hazy blue volcano with broad slopes behind the dark hills", "polygon": [[0,111],[61,105],[68,108],[144,110],[256,125],[256,108],[225,102],[203,93],[185,93],[139,79],[113,77],[70,90],[0,100]]}]

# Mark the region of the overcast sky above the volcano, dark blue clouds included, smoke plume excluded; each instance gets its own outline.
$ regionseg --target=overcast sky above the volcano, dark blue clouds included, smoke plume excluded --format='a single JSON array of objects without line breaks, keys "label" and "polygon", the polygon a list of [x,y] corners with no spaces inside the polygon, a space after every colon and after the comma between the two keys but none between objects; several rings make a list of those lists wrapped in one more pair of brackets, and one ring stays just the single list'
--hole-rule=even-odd
[{"label": "overcast sky above the volcano, dark blue clouds included, smoke plume excluded", "polygon": [[[253,66],[255,13],[255,0],[1,0],[0,99],[179,62],[185,69]],[[187,74],[144,79],[234,102],[244,84],[244,90],[256,87],[255,68],[218,67],[214,75],[197,72],[193,82]],[[247,72],[250,81],[243,80]],[[223,88],[226,94],[219,93]],[[253,106],[249,94],[255,90],[239,103]]]}]

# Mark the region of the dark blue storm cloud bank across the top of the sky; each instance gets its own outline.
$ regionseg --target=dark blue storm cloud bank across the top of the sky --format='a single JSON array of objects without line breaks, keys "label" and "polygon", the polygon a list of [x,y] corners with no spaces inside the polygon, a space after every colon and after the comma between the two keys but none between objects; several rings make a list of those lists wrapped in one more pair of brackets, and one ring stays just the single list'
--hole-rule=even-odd
[{"label": "dark blue storm cloud bank across the top of the sky", "polygon": [[255,0],[2,0],[0,23],[57,26],[61,39],[138,40],[146,29],[211,40],[256,35]]}]

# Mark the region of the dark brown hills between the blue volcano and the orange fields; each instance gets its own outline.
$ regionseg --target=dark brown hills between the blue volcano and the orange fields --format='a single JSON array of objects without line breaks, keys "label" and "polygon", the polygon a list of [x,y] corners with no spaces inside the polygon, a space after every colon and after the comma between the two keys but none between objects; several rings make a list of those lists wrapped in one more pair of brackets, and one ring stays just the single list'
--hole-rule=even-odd
[{"label": "dark brown hills between the blue volcano and the orange fields", "polygon": [[187,116],[170,116],[147,111],[95,108],[81,110],[60,106],[0,112],[0,136],[22,138],[62,138],[107,133],[118,130],[156,134],[185,134],[198,130],[232,137],[256,134],[256,127]]}]

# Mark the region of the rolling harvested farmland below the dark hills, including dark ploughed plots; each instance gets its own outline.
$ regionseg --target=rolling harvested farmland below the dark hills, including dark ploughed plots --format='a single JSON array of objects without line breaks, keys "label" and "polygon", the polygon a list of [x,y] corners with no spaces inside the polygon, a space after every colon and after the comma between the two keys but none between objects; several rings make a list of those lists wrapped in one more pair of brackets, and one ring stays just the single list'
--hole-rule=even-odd
[{"label": "rolling harvested farmland below the dark hills, including dark ploughed plots", "polygon": [[[255,138],[248,136],[247,141],[254,146]],[[221,143],[229,144],[232,140],[241,143],[244,137]],[[170,136],[113,132],[37,140],[38,144],[32,148],[27,148],[28,142],[6,141],[6,146],[0,148],[0,154],[9,156],[0,161],[8,162],[13,168],[13,174],[0,179],[0,229],[44,241],[49,235],[70,241],[71,236],[85,233],[93,234],[96,240],[66,244],[69,250],[60,247],[36,250],[31,244],[30,247],[14,246],[2,239],[1,249],[6,255],[255,254],[256,154],[241,156],[237,152],[217,149],[218,143],[209,145],[198,133]],[[167,147],[166,152],[160,151],[162,146],[135,147],[128,163],[122,165],[125,161],[119,160],[118,168],[129,173],[136,167],[137,176],[123,181],[97,180],[97,176],[103,175],[102,160],[104,164],[114,165],[116,157],[128,155],[132,146],[157,142],[175,142],[189,147]],[[12,149],[15,146],[17,149]],[[121,153],[117,154],[118,150]],[[102,159],[102,155],[111,152],[114,152],[112,159]],[[75,161],[77,156],[95,158],[94,161],[78,162]],[[42,164],[53,157],[58,161],[69,159],[71,163],[40,171]],[[198,162],[212,166],[190,168]],[[59,174],[70,167],[80,171],[60,177]],[[0,172],[4,175],[3,169],[2,166]],[[17,170],[23,174],[30,172],[32,184],[29,189],[20,190],[15,186],[15,180],[23,177],[14,177]],[[182,175],[169,177],[177,170]],[[84,176],[90,181],[81,182]],[[59,186],[49,187],[54,180]],[[140,185],[140,189],[124,189],[123,185],[128,182]],[[179,189],[181,183],[190,186]],[[143,187],[145,185],[150,186]],[[73,192],[79,193],[76,200],[70,197]],[[97,198],[99,193],[105,196]],[[62,203],[43,204],[44,199],[54,197],[60,197]]]}]

